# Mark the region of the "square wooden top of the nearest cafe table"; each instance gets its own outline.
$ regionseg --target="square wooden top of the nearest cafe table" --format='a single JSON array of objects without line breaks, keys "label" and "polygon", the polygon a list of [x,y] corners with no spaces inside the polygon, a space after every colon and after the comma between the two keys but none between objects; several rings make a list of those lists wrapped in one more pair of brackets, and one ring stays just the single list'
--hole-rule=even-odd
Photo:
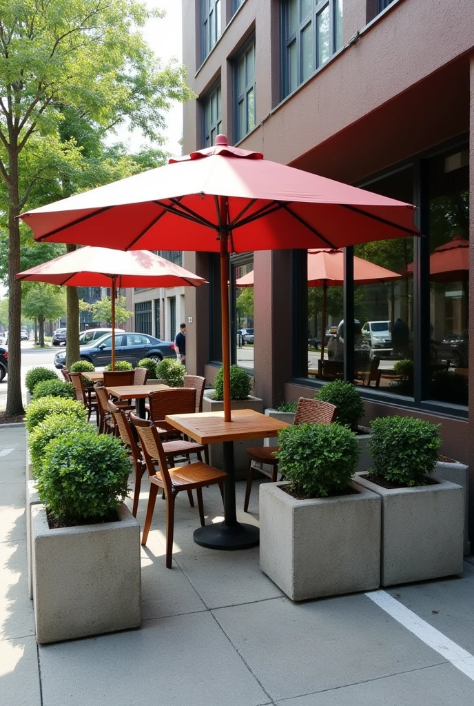
[{"label": "square wooden top of the nearest cafe table", "polygon": [[168,424],[200,444],[277,436],[279,429],[289,426],[286,421],[267,417],[253,409],[233,409],[231,418],[232,421],[224,421],[224,412],[166,415]]}]

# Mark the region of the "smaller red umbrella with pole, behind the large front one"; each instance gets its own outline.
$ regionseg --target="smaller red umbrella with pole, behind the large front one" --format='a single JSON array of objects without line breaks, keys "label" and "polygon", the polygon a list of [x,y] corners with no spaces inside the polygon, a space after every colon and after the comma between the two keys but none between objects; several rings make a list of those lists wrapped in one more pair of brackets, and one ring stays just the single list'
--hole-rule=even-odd
[{"label": "smaller red umbrella with pole, behind the large front one", "polygon": [[[20,272],[16,278],[69,287],[111,287],[112,330],[115,330],[117,287],[199,287],[206,281],[148,250],[123,252],[90,246]],[[111,353],[114,370],[114,335]]]}]

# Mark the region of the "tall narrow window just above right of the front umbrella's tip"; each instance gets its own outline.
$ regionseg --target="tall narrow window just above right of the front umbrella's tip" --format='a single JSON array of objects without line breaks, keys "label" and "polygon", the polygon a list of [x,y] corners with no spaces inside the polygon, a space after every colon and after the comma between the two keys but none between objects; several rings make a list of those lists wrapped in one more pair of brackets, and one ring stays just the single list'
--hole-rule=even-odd
[{"label": "tall narrow window just above right of the front umbrella's tip", "polygon": [[255,37],[234,64],[235,141],[255,128]]}]

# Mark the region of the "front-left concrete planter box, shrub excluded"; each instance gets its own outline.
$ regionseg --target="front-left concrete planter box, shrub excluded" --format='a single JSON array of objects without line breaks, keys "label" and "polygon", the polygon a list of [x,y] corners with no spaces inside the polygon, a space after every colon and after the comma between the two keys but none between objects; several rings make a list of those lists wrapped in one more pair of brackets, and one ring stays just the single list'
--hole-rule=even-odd
[{"label": "front-left concrete planter box, shrub excluded", "polygon": [[40,644],[140,625],[140,525],[124,503],[120,522],[50,530],[32,505],[33,593]]}]

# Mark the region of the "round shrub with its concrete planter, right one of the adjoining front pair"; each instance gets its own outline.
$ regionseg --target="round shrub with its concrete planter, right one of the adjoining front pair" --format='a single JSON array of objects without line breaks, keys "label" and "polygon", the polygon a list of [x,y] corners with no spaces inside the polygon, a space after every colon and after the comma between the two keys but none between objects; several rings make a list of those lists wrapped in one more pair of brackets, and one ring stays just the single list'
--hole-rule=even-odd
[{"label": "round shrub with its concrete planter, right one of the adjoining front pair", "polygon": [[463,489],[431,477],[441,443],[439,425],[429,421],[372,421],[372,468],[356,482],[382,498],[384,586],[463,570]]}]

